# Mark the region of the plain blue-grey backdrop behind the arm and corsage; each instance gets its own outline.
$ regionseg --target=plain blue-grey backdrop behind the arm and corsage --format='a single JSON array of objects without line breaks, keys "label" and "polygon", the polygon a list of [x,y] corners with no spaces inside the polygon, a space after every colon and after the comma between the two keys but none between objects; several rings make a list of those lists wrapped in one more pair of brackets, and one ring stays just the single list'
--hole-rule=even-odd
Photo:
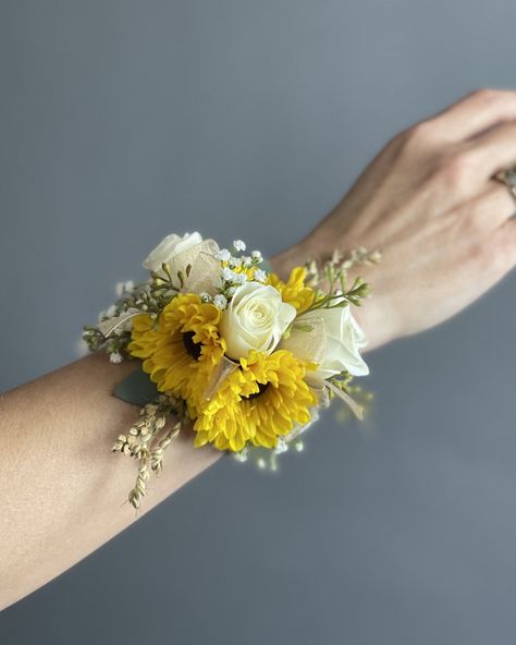
[{"label": "plain blue-grey backdrop behind the arm and corsage", "polygon": [[[515,23],[509,0],[1,0],[0,390],[74,360],[164,234],[272,254],[396,131],[514,87]],[[515,284],[369,356],[367,427],[330,411],[275,476],[223,460],[5,610],[2,644],[514,644]]]}]

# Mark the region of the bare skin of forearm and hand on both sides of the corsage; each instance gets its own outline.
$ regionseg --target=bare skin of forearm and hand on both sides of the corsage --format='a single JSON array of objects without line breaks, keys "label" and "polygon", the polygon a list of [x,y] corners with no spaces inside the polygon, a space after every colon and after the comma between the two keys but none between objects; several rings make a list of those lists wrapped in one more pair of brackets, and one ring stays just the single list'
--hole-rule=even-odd
[{"label": "bare skin of forearm and hand on both sides of the corsage", "polygon": [[[379,248],[357,315],[369,349],[465,308],[516,261],[515,203],[491,179],[516,162],[516,93],[480,90],[391,141],[303,241],[272,259],[286,275],[335,247]],[[138,409],[112,397],[136,367],[94,354],[0,398],[0,607],[72,567],[221,453],[184,431],[136,516],[123,504],[134,463],[111,452]]]}]

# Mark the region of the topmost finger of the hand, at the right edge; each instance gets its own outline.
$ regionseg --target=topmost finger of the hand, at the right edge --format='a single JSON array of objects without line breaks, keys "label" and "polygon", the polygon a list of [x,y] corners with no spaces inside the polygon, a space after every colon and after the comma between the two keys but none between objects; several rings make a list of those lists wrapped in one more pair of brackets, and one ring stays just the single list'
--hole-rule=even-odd
[{"label": "topmost finger of the hand, at the right edge", "polygon": [[440,112],[432,123],[435,135],[459,142],[493,125],[516,119],[516,92],[478,89]]}]

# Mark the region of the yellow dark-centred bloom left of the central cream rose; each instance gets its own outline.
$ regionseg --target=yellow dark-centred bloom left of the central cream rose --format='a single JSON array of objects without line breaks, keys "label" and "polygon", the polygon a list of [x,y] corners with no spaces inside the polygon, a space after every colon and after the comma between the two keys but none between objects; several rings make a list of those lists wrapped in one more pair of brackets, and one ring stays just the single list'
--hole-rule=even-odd
[{"label": "yellow dark-centred bloom left of the central cream rose", "polygon": [[157,322],[148,314],[133,321],[130,353],[143,360],[144,372],[159,391],[186,400],[192,415],[225,351],[218,332],[220,316],[214,305],[187,293],[174,297]]}]

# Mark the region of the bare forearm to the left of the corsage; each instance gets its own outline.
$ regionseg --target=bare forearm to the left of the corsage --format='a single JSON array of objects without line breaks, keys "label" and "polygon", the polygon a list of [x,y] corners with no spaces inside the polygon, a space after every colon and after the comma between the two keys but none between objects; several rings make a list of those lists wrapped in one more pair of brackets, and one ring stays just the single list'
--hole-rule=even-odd
[{"label": "bare forearm to the left of the corsage", "polygon": [[[112,395],[136,362],[93,354],[4,394],[0,403],[0,607],[38,588],[137,518],[124,504],[134,463],[111,452],[138,407]],[[138,514],[222,453],[182,434]]]}]

